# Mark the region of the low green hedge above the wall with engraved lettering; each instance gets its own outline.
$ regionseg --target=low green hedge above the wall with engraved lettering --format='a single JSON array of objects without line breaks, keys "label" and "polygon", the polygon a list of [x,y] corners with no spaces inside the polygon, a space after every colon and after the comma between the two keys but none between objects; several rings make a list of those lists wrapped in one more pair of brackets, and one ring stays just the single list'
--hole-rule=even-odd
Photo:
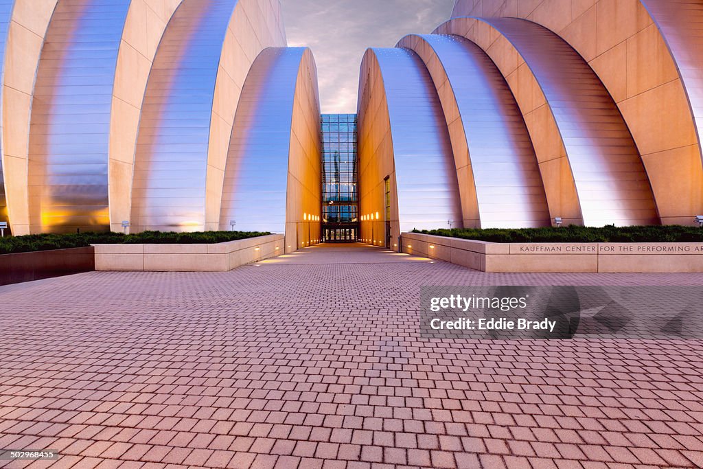
[{"label": "low green hedge above the wall with engraved lettering", "polygon": [[703,241],[703,229],[695,226],[562,226],[525,229],[413,230],[491,243],[695,243]]}]

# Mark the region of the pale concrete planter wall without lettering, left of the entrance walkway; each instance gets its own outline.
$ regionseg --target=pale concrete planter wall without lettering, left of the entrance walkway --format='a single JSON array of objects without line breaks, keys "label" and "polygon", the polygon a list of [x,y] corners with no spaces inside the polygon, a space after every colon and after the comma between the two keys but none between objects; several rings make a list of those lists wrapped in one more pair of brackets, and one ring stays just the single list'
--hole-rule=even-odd
[{"label": "pale concrete planter wall without lettering, left of the entrance walkway", "polygon": [[224,272],[285,251],[282,234],[217,244],[96,244],[98,271]]}]

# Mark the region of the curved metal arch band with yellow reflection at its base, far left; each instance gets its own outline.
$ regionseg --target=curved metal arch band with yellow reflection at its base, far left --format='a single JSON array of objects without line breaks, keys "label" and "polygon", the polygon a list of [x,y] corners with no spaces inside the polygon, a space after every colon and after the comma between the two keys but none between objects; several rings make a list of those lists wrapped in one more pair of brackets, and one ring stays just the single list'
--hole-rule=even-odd
[{"label": "curved metal arch band with yellow reflection at its base, far left", "polygon": [[109,228],[110,101],[128,8],[129,0],[64,0],[53,12],[32,99],[32,232]]}]

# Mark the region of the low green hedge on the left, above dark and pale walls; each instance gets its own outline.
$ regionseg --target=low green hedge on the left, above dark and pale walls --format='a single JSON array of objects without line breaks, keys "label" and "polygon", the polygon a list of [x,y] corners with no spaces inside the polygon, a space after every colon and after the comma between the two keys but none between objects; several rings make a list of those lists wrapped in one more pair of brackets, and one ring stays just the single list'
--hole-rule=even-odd
[{"label": "low green hedge on the left, above dark and pale walls", "polygon": [[0,254],[13,252],[47,251],[52,249],[84,248],[91,244],[209,244],[225,243],[239,239],[254,238],[271,233],[258,231],[204,231],[198,233],[174,233],[143,231],[124,235],[122,233],[36,234],[6,236],[0,238]]}]

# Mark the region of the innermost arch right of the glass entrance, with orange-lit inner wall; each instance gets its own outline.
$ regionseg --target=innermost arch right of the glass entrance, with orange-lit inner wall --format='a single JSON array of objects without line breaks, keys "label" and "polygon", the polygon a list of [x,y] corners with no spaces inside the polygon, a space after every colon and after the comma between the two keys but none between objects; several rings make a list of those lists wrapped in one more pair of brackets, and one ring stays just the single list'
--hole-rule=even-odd
[{"label": "innermost arch right of the glass entrance, with orange-lit inner wall", "polygon": [[[405,48],[368,49],[359,84],[361,238],[378,243],[385,221],[392,239],[401,231],[461,226],[449,131],[432,77],[418,54]],[[386,178],[388,216],[383,203]]]}]

